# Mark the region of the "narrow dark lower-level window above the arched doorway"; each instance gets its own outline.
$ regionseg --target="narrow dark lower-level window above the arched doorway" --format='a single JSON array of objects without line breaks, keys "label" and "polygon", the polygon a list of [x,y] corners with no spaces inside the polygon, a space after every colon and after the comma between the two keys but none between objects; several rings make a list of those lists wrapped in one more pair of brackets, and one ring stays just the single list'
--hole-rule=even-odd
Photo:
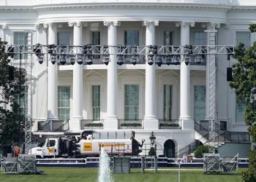
[{"label": "narrow dark lower-level window above the arched doorway", "polygon": [[172,85],[164,84],[164,120],[170,121],[172,119],[172,94]]}]

